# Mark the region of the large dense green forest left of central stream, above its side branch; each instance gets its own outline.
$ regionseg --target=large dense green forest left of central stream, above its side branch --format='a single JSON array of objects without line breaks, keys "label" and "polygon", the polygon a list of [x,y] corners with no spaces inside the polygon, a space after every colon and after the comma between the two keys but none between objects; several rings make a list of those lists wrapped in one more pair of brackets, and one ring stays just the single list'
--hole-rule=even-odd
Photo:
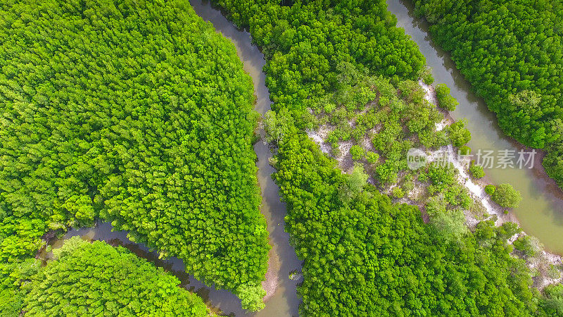
[{"label": "large dense green forest left of central stream, above its side branch", "polygon": [[99,216],[262,295],[253,86],[232,43],[187,1],[8,0],[0,17],[0,260]]}]

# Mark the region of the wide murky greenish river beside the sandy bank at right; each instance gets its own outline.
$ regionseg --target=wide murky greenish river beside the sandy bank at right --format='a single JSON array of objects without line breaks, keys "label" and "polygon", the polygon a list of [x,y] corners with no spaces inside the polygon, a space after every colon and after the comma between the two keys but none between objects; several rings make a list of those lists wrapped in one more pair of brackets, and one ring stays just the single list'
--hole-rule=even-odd
[{"label": "wide murky greenish river beside the sandy bank at right", "polygon": [[[445,83],[460,105],[451,112],[455,119],[467,118],[467,128],[472,133],[469,147],[473,153],[493,150],[495,154],[503,149],[518,153],[524,149],[513,139],[506,137],[497,124],[495,114],[488,110],[483,99],[474,94],[471,85],[455,68],[450,54],[436,46],[428,33],[426,21],[416,18],[414,4],[408,0],[387,0],[388,11],[396,15],[397,26],[412,37],[426,63],[432,68],[435,84]],[[525,149],[528,151],[529,149]],[[495,163],[496,165],[496,163]],[[522,194],[518,209],[511,211],[512,219],[518,220],[521,228],[538,237],[548,251],[563,255],[563,193],[553,180],[550,180],[541,166],[541,155],[536,154],[533,168],[488,168],[487,180],[494,184],[509,182]]]}]

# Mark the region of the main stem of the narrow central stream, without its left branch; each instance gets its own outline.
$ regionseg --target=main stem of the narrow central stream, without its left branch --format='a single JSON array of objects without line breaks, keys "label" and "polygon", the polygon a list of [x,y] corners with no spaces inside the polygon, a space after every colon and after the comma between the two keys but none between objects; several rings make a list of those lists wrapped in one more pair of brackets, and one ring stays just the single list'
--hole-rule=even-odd
[{"label": "main stem of the narrow central stream, without its left branch", "polygon": [[[213,23],[215,30],[224,37],[231,39],[236,52],[244,64],[244,70],[250,74],[254,83],[254,92],[258,98],[255,110],[260,114],[270,110],[270,92],[265,85],[265,73],[262,72],[266,61],[258,46],[252,44],[250,33],[237,29],[221,11],[213,8],[208,0],[190,0],[196,13],[205,21]],[[263,137],[263,131],[262,131]],[[298,281],[289,279],[289,273],[293,270],[301,271],[301,261],[297,259],[295,249],[289,245],[289,235],[284,231],[286,215],[285,204],[279,201],[279,187],[272,180],[274,168],[268,163],[272,156],[265,142],[259,141],[254,145],[254,151],[258,156],[258,182],[262,189],[262,214],[266,217],[267,230],[270,232],[270,261],[274,261],[273,272],[278,277],[278,285],[275,294],[267,299],[266,308],[255,316],[298,316],[298,306],[301,299],[297,296],[296,285]],[[214,304],[213,298],[211,302]],[[237,303],[240,307],[240,304]],[[236,313],[242,316],[243,312]]]}]

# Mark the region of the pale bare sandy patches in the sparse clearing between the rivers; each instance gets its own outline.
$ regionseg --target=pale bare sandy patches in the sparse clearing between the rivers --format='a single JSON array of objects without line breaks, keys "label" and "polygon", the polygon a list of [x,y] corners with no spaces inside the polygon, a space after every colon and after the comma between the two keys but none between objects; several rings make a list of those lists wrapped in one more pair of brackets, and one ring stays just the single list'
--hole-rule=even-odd
[{"label": "pale bare sandy patches in the sparse clearing between the rivers", "polygon": [[[435,123],[436,131],[439,132],[444,129],[448,129],[448,126],[453,124],[455,120],[449,115],[448,111],[443,111],[442,109],[438,108],[436,104],[437,99],[434,87],[425,85],[422,81],[419,81],[419,86],[424,91],[424,99],[428,102],[428,104],[431,105],[431,107],[434,107],[435,110],[439,110],[443,115],[443,120]],[[372,104],[374,103],[372,102],[369,105]],[[374,109],[376,109],[375,111],[377,113],[377,111],[386,111],[385,108],[385,106],[376,106]],[[366,111],[373,110],[371,106],[365,106],[362,111],[358,111],[357,117],[355,118],[361,118],[362,115],[365,115]],[[325,115],[327,114],[324,112],[319,113],[317,115],[317,120],[324,122],[325,120],[323,116]],[[352,129],[355,128],[355,119],[348,120],[348,125],[350,125],[350,128]],[[362,137],[359,140],[357,139],[356,142],[353,142],[353,140],[351,139],[340,139],[339,142],[334,143],[333,140],[331,141],[333,143],[330,144],[328,140],[330,139],[331,135],[334,134],[334,132],[339,132],[342,130],[346,129],[341,125],[337,127],[336,125],[331,125],[330,123],[324,123],[317,129],[307,130],[306,132],[310,139],[317,143],[320,149],[325,154],[331,156],[337,161],[338,166],[343,173],[351,173],[354,163],[357,160],[353,159],[353,154],[351,153],[350,149],[352,149],[354,144],[358,144],[365,151],[374,151],[372,137],[380,132],[381,123],[378,123],[375,127],[371,128],[367,132],[367,136]],[[395,142],[400,141],[401,140],[399,139]],[[491,181],[488,178],[475,179],[474,177],[472,177],[471,173],[469,172],[471,160],[469,156],[459,156],[458,149],[456,147],[453,147],[451,144],[448,146],[439,147],[438,149],[425,149],[424,151],[424,154],[426,156],[426,165],[432,162],[443,163],[443,161],[450,163],[455,170],[455,181],[458,185],[460,185],[460,187],[464,188],[464,190],[467,191],[470,199],[472,199],[473,204],[471,208],[464,209],[465,224],[467,225],[467,228],[469,230],[474,230],[476,225],[483,220],[493,220],[495,225],[497,226],[500,226],[503,223],[509,221],[519,224],[514,211],[502,208],[502,206],[493,201],[491,195],[485,192],[484,187],[488,184],[491,184]],[[396,197],[396,190],[402,191],[405,188],[404,178],[405,175],[408,174],[408,170],[399,171],[398,183],[393,185],[384,185],[381,182],[376,182],[376,180],[374,180],[374,166],[365,162],[362,164],[365,169],[369,171],[368,182],[376,186],[381,192],[388,194],[388,196]],[[381,164],[381,162],[379,162],[378,164]],[[420,182],[415,177],[415,180],[412,180],[412,189],[405,192],[405,194],[403,194],[403,197],[393,198],[393,201],[396,203],[418,206],[421,210],[422,219],[425,223],[429,223],[430,218],[426,213],[426,199],[429,199],[429,186],[431,185],[429,185],[428,182]],[[518,235],[515,235],[511,239],[507,240],[507,243],[512,244],[518,237],[524,236],[526,236],[526,232],[521,232]],[[547,285],[555,282],[560,282],[561,273],[559,266],[561,266],[562,264],[562,257],[546,251],[540,244],[537,244],[536,246],[534,246],[534,248],[538,249],[537,254],[534,256],[524,256],[524,254],[521,254],[519,251],[514,251],[512,253],[512,256],[517,256],[526,261],[526,265],[529,266],[529,268],[533,272],[534,287],[537,287],[541,290]]]}]

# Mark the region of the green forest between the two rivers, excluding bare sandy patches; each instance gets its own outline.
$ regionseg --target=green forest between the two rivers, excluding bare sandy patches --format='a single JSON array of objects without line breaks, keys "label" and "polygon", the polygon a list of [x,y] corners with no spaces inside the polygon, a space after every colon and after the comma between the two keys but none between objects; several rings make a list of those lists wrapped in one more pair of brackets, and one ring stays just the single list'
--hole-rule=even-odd
[{"label": "green forest between the two rivers, excluding bare sandy patches", "polygon": [[[288,208],[286,230],[303,259],[303,283],[298,288],[303,298],[301,315],[529,316],[537,312],[529,269],[510,254],[512,246],[507,244],[507,238],[518,232],[517,225],[495,227],[493,221],[486,221],[474,232],[466,230],[462,212],[446,208],[461,197],[453,168],[431,166],[419,175],[431,182],[433,193],[443,194],[436,196],[435,204],[441,218],[425,224],[416,206],[392,204],[366,184],[358,167],[350,175],[343,174],[303,131],[325,120],[336,127],[327,142],[338,144],[358,141],[366,129],[380,125],[372,144],[381,158],[378,154],[368,163],[377,165],[382,182],[396,181],[398,171],[405,168],[400,154],[413,144],[408,136],[417,134],[429,148],[448,142],[460,146],[469,140],[463,121],[436,132],[434,123],[441,118],[423,102],[424,92],[413,81],[424,75],[422,56],[393,53],[399,44],[416,46],[396,32],[383,1],[291,1],[289,6],[281,1],[217,2],[236,23],[250,27],[268,59],[266,82],[275,113],[266,128],[275,133],[272,139],[278,145],[272,164]],[[333,20],[341,22],[334,27]],[[377,54],[365,59],[354,55],[354,49],[366,43],[360,40],[363,32],[372,32],[369,38],[378,47]],[[387,35],[399,34],[400,40],[391,41],[393,46],[381,44]],[[324,63],[324,48],[333,49],[325,57],[328,63]],[[352,52],[348,55],[353,58],[339,54],[342,51]],[[378,59],[386,55],[390,59]],[[405,71],[409,68],[403,62],[414,71]],[[372,77],[369,82],[361,80],[365,75],[389,78]],[[405,79],[410,81],[400,82]],[[443,89],[445,96],[449,94]],[[379,108],[372,105],[373,99],[378,99]],[[375,111],[365,106],[368,101]],[[455,102],[446,101],[450,103],[445,107],[453,108]],[[379,109],[384,109],[384,116],[378,116]],[[355,120],[355,128],[348,127],[348,120]],[[361,151],[352,151],[362,159]],[[393,194],[400,196],[398,190]],[[445,211],[452,215],[445,217]]]}]

